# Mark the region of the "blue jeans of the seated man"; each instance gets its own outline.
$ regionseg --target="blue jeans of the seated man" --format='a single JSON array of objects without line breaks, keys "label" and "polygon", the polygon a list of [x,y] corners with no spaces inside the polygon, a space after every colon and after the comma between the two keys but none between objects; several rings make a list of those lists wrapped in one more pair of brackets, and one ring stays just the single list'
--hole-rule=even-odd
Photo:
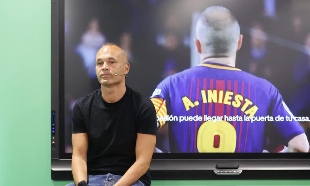
[{"label": "blue jeans of the seated man", "polygon": [[[114,185],[122,176],[113,175],[108,173],[107,175],[88,175],[88,186],[112,186]],[[86,181],[86,180],[85,180]],[[74,183],[67,184],[66,186],[76,186]],[[142,181],[138,180],[131,186],[145,186]]]}]

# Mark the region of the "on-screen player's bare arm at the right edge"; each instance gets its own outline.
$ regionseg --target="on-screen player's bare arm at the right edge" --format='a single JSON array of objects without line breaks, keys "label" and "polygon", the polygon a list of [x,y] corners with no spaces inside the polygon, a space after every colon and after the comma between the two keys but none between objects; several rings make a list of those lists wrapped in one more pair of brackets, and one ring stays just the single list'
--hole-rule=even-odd
[{"label": "on-screen player's bare arm at the right edge", "polygon": [[290,153],[308,153],[309,142],[305,133],[295,136],[288,143],[288,152]]}]

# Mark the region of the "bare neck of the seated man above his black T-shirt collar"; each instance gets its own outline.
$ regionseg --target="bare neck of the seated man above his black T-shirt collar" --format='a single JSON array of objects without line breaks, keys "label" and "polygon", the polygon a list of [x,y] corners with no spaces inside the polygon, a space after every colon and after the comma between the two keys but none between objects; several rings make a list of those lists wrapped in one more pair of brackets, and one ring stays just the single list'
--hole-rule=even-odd
[{"label": "bare neck of the seated man above his black T-shirt collar", "polygon": [[101,85],[102,99],[108,103],[115,103],[119,101],[125,95],[125,92],[126,92],[125,82],[112,86]]}]

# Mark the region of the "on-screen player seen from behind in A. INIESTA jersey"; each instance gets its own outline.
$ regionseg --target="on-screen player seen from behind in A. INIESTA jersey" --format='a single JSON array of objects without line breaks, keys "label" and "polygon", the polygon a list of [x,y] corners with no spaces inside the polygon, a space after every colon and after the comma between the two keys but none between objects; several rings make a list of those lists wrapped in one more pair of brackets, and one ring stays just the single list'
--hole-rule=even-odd
[{"label": "on-screen player seen from behind in A. INIESTA jersey", "polygon": [[277,88],[235,67],[242,35],[231,12],[207,8],[196,33],[200,64],[167,77],[151,96],[159,130],[166,124],[169,129],[170,149],[157,148],[172,153],[261,153],[276,148],[267,145],[285,144],[288,152],[308,152],[299,122],[276,118],[294,117]]}]

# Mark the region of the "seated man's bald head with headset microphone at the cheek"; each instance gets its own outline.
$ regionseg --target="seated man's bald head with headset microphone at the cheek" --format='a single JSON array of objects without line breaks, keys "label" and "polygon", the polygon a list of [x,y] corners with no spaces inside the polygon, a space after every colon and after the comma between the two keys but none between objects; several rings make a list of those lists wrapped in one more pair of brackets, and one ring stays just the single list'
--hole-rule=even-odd
[{"label": "seated man's bald head with headset microphone at the cheek", "polygon": [[[120,84],[125,81],[129,64],[125,52],[117,46],[105,45],[96,55],[96,74],[103,86]],[[116,76],[115,74],[121,75]]]}]

